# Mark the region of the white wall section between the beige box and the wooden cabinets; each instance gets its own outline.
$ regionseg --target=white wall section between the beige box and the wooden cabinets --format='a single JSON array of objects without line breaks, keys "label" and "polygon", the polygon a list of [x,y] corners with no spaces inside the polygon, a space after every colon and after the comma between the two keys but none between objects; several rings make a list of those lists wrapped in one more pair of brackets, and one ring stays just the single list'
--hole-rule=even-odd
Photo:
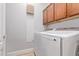
[{"label": "white wall section between the beige box and the wooden cabinets", "polygon": [[40,32],[45,29],[43,25],[43,10],[48,5],[48,3],[39,3],[35,5],[35,32]]}]

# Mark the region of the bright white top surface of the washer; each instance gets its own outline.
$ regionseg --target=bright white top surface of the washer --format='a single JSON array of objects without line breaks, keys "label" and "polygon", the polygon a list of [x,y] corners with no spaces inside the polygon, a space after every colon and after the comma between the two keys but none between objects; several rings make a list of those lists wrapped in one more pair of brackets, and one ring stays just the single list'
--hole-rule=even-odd
[{"label": "bright white top surface of the washer", "polygon": [[53,36],[59,36],[59,37],[70,37],[74,35],[78,35],[79,31],[44,31],[40,32],[41,34],[46,35],[53,35]]}]

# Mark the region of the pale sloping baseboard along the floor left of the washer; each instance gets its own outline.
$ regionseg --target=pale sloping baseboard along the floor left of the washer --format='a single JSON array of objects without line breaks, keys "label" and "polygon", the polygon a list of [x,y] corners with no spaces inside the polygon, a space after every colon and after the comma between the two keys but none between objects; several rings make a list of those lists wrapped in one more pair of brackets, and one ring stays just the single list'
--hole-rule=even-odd
[{"label": "pale sloping baseboard along the floor left of the washer", "polygon": [[29,48],[29,49],[24,49],[24,50],[13,51],[13,52],[7,53],[7,56],[20,56],[20,55],[23,55],[25,53],[30,53],[30,52],[34,52],[34,49]]}]

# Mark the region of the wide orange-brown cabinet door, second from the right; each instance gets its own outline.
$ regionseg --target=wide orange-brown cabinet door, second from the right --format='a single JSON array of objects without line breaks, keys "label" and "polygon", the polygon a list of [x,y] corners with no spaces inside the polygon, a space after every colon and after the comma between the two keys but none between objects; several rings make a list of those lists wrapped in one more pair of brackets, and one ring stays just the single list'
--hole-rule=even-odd
[{"label": "wide orange-brown cabinet door, second from the right", "polygon": [[66,17],[66,3],[55,3],[55,20]]}]

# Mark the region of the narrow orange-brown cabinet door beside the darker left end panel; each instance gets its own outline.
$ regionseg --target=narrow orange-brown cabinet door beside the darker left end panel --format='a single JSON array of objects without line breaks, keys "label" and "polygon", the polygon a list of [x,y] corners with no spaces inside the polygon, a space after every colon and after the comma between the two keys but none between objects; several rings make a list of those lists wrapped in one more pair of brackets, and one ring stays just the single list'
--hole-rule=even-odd
[{"label": "narrow orange-brown cabinet door beside the darker left end panel", "polygon": [[52,22],[54,21],[54,4],[50,4],[47,8],[47,11],[48,11],[48,22]]}]

